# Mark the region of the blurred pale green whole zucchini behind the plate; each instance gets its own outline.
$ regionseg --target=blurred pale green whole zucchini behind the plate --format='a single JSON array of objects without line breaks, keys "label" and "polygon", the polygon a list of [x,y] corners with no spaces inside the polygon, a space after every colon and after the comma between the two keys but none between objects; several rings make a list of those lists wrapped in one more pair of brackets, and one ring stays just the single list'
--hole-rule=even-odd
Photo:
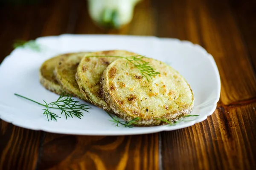
[{"label": "blurred pale green whole zucchini behind the plate", "polygon": [[130,23],[140,0],[88,0],[92,20],[103,28],[118,29]]}]

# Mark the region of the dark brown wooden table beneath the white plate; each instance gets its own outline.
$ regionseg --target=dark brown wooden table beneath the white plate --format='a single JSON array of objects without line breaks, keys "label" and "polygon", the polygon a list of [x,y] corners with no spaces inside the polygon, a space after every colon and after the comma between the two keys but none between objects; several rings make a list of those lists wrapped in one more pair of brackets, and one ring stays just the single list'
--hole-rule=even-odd
[{"label": "dark brown wooden table beneath the white plate", "polygon": [[64,33],[154,35],[197,43],[218,65],[218,106],[192,127],[137,136],[60,135],[0,120],[0,170],[256,169],[255,0],[144,0],[130,25],[119,31],[97,28],[86,0],[0,6],[0,62],[16,39]]}]

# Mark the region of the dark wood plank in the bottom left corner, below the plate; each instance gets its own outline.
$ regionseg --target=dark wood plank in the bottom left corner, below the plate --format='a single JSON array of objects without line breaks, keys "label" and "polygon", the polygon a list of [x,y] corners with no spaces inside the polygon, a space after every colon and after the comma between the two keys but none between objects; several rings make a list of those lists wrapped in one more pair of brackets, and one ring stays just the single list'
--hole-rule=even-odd
[{"label": "dark wood plank in the bottom left corner, below the plate", "polygon": [[20,128],[0,120],[0,170],[35,169],[41,131]]}]

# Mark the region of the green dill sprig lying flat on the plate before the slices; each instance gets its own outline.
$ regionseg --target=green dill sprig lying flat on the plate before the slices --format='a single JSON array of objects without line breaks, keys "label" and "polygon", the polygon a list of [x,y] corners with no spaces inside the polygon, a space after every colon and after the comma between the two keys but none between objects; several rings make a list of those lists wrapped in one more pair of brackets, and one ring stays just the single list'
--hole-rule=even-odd
[{"label": "green dill sprig lying flat on the plate before the slices", "polygon": [[70,95],[70,94],[65,94],[65,95],[61,94],[55,102],[50,102],[49,104],[47,104],[47,102],[45,102],[44,99],[43,99],[44,104],[42,104],[42,103],[36,102],[32,99],[29,99],[27,97],[21,96],[19,94],[15,94],[15,96],[22,97],[23,99],[27,99],[31,102],[37,103],[38,105],[44,106],[45,108],[43,109],[44,110],[43,114],[45,116],[47,116],[48,121],[49,121],[49,117],[50,117],[51,120],[54,119],[55,121],[57,121],[57,118],[60,118],[60,116],[58,116],[57,114],[49,111],[49,109],[59,109],[59,110],[61,110],[61,115],[64,113],[66,119],[67,119],[67,117],[72,117],[73,118],[73,116],[76,116],[79,119],[81,119],[81,116],[84,116],[83,112],[81,112],[81,111],[89,112],[89,111],[87,111],[87,109],[90,109],[89,105],[80,104],[80,102],[75,101],[72,98],[72,95]]}]

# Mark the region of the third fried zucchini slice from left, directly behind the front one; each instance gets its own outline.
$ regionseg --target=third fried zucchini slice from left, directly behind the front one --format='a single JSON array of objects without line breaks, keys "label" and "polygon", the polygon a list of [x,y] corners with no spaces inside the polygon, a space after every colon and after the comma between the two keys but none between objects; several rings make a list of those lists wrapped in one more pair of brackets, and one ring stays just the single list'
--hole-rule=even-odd
[{"label": "third fried zucchini slice from left, directly behind the front one", "polygon": [[98,51],[86,54],[81,60],[76,73],[76,82],[80,91],[90,100],[93,105],[103,108],[105,111],[112,112],[111,108],[104,101],[100,81],[103,71],[107,66],[118,58],[113,57],[90,57],[90,56],[122,56],[128,57],[137,55],[128,51],[112,50]]}]

